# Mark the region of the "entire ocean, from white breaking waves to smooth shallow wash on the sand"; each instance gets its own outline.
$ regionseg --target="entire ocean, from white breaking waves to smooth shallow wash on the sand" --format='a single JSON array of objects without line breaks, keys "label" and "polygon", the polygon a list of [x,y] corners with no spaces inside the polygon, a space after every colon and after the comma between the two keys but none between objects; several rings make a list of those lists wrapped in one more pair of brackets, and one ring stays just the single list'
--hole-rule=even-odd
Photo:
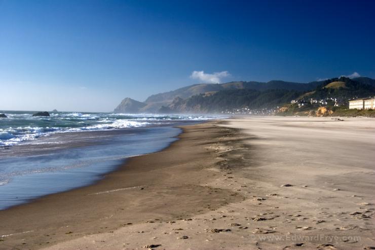
[{"label": "entire ocean, from white breaking waves to smooth shallow wash on the sand", "polygon": [[220,118],[0,111],[0,210],[90,185],[127,158],[160,151],[176,140],[178,125]]}]

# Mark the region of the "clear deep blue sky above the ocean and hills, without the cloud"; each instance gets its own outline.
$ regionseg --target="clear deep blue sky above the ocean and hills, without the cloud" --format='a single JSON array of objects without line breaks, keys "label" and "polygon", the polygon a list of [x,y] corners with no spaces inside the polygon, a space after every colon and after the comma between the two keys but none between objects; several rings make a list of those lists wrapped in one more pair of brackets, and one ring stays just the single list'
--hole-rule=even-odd
[{"label": "clear deep blue sky above the ocean and hills, without the cloud", "polygon": [[0,110],[111,111],[210,79],[195,70],[375,78],[373,13],[368,0],[0,0]]}]

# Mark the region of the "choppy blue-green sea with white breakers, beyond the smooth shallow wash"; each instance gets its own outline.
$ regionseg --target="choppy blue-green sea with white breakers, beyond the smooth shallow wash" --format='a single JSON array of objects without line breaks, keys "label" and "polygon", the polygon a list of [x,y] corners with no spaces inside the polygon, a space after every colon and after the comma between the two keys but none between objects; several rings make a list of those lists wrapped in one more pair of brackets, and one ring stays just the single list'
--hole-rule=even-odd
[{"label": "choppy blue-green sea with white breakers, beyond the smooth shallow wash", "polygon": [[0,120],[0,147],[12,146],[53,133],[135,128],[173,121],[199,121],[218,118],[204,115],[155,115],[59,112],[50,117],[33,117],[33,112],[3,112]]}]

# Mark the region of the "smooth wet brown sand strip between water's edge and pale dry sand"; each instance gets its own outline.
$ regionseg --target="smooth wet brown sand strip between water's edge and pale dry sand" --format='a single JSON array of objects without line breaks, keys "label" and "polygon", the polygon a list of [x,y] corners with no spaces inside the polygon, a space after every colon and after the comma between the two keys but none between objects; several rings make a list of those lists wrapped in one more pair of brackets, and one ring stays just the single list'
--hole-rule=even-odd
[{"label": "smooth wet brown sand strip between water's edge and pale dry sand", "polygon": [[206,169],[219,161],[206,145],[233,131],[212,123],[185,127],[167,149],[130,158],[95,185],[0,211],[0,248],[41,248],[148,220],[190,218],[239,200],[206,185],[219,174]]}]

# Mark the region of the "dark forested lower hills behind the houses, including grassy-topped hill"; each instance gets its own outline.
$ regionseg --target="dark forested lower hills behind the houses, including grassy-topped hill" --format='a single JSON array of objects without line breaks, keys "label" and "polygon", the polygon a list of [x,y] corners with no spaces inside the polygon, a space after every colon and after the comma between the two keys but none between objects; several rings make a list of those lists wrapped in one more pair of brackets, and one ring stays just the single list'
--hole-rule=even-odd
[{"label": "dark forested lower hills behind the houses, including grassy-topped hill", "polygon": [[[372,79],[370,79],[372,80]],[[163,106],[162,113],[220,113],[226,110],[273,109],[294,99],[341,98],[349,100],[357,97],[375,95],[375,87],[362,82],[368,79],[332,78],[315,82],[314,90],[298,91],[288,89],[229,89],[214,93],[193,95],[189,98],[175,98],[168,106]]]}]

